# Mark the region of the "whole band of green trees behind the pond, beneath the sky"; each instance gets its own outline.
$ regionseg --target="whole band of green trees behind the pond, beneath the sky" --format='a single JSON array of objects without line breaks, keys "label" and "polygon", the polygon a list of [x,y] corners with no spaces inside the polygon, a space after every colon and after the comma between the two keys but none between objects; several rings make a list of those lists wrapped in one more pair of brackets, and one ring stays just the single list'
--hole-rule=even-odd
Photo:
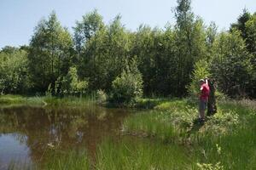
[{"label": "whole band of green trees behind the pond, beneath the sky", "polygon": [[191,83],[209,77],[223,94],[255,99],[256,13],[244,9],[220,32],[195,16],[190,0],[177,0],[174,13],[174,25],[130,31],[120,15],[106,24],[95,9],[72,35],[52,12],[38,22],[29,45],[0,51],[0,93],[111,93],[125,71],[137,75],[145,96],[183,97],[194,90]]}]

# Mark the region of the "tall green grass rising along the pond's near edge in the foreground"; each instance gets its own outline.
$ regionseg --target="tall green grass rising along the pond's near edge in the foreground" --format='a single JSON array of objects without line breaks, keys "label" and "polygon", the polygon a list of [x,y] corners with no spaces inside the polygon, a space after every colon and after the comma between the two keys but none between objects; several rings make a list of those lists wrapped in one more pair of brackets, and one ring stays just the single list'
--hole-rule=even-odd
[{"label": "tall green grass rising along the pond's near edge in the foreground", "polygon": [[148,139],[107,139],[97,147],[95,161],[86,150],[48,150],[43,161],[31,164],[11,163],[9,169],[52,170],[148,170],[195,169],[196,160],[186,147],[162,144]]}]

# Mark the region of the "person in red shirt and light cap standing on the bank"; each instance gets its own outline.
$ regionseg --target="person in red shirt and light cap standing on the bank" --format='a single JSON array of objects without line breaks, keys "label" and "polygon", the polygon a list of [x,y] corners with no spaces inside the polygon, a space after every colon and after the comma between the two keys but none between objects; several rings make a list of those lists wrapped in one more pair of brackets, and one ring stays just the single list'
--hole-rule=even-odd
[{"label": "person in red shirt and light cap standing on the bank", "polygon": [[205,111],[207,109],[207,102],[208,102],[208,98],[209,98],[209,94],[210,94],[210,88],[208,86],[208,80],[206,79],[206,81],[204,79],[200,80],[200,97],[199,97],[199,113],[200,113],[200,118],[201,121],[204,122],[205,121]]}]

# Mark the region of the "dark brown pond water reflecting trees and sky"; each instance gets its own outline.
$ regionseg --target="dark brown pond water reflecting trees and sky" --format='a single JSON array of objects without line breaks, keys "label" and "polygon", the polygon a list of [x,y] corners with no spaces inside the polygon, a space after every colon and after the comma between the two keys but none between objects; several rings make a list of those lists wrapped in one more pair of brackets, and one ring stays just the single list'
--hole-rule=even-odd
[{"label": "dark brown pond water reflecting trees and sky", "polygon": [[118,138],[125,110],[90,106],[0,107],[0,169],[10,162],[42,161],[44,150],[86,149],[94,156],[104,138]]}]

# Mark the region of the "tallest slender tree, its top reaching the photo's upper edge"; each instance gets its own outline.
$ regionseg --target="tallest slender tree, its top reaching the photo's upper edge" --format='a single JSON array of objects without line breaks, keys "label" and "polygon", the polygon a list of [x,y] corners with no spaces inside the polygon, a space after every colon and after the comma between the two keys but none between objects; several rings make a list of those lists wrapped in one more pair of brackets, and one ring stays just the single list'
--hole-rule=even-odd
[{"label": "tallest slender tree, its top reaching the photo's upper edge", "polygon": [[206,58],[207,34],[202,20],[191,11],[190,0],[178,0],[175,17],[175,42],[177,52],[175,54],[176,87],[174,88],[177,96],[187,94],[186,87],[190,83],[190,77],[194,70],[195,62]]}]

